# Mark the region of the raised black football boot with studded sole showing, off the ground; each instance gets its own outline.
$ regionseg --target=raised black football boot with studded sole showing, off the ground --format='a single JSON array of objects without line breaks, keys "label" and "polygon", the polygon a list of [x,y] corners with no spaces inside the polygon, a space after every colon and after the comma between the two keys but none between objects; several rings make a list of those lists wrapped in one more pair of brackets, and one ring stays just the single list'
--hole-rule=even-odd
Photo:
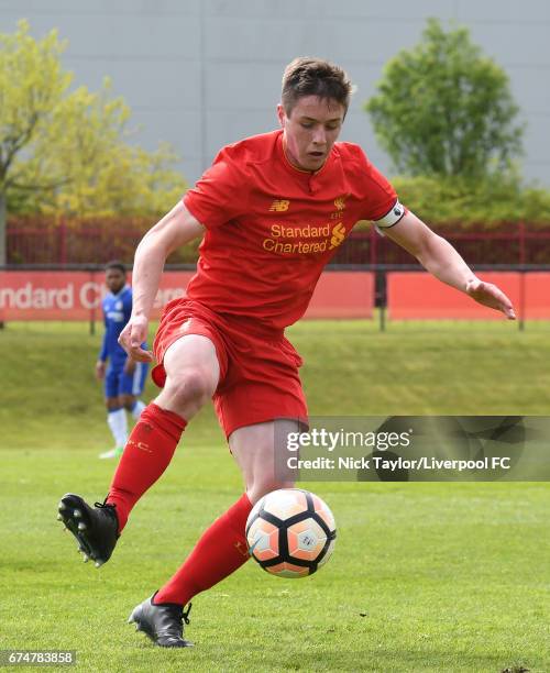
[{"label": "raised black football boot with studded sole showing, off the ground", "polygon": [[107,563],[119,538],[114,505],[96,503],[90,507],[80,496],[67,493],[61,499],[58,512],[57,519],[75,536],[84,561],[91,559],[96,567]]}]

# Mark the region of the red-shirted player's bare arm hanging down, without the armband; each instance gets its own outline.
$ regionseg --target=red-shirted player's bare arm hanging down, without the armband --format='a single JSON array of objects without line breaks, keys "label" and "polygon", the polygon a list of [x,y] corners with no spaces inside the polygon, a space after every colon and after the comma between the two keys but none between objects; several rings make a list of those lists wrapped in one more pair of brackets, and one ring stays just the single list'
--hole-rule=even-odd
[{"label": "red-shirted player's bare arm hanging down, without the armband", "polygon": [[166,257],[180,245],[201,236],[205,228],[180,201],[143,236],[135,251],[132,274],[132,316],[119,343],[138,362],[151,362],[153,354],[141,347],[147,336],[153,301],[158,290]]}]

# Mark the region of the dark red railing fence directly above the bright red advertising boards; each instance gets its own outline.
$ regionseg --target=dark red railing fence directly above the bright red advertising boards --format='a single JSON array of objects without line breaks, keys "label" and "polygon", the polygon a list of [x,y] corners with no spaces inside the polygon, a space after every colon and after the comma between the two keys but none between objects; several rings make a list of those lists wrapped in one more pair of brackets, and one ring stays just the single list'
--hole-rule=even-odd
[{"label": "dark red railing fence directly above the bright red advertising boards", "polygon": [[[18,217],[8,223],[8,264],[90,264],[133,260],[138,242],[148,229],[146,219],[102,219],[66,222],[54,218]],[[549,264],[550,229],[524,223],[484,231],[441,229],[469,264]],[[195,247],[184,246],[170,263],[194,263]],[[332,264],[410,264],[413,257],[374,228],[355,228],[338,249]]]}]

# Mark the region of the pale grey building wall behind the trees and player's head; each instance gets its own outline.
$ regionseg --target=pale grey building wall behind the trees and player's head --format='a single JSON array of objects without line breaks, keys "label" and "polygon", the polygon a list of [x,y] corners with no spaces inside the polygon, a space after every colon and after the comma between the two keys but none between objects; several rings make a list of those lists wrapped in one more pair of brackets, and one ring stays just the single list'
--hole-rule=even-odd
[{"label": "pale grey building wall behind the trees and player's head", "polygon": [[136,141],[172,143],[190,183],[222,145],[276,126],[280,76],[297,55],[350,73],[359,91],[342,140],[391,174],[362,106],[429,16],[468,25],[506,69],[528,124],[524,173],[550,185],[547,0],[0,0],[0,32],[20,18],[35,36],[57,27],[75,82],[97,89],[110,76],[133,110]]}]

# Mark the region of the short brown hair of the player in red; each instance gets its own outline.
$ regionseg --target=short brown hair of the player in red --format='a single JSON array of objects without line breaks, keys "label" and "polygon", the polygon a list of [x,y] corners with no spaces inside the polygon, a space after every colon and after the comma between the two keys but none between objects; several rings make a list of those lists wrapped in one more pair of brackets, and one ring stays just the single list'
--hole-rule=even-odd
[{"label": "short brown hair of the player in red", "polygon": [[342,68],[322,58],[299,56],[285,68],[280,100],[288,115],[304,96],[336,100],[344,107],[345,113],[351,92],[351,80]]}]

